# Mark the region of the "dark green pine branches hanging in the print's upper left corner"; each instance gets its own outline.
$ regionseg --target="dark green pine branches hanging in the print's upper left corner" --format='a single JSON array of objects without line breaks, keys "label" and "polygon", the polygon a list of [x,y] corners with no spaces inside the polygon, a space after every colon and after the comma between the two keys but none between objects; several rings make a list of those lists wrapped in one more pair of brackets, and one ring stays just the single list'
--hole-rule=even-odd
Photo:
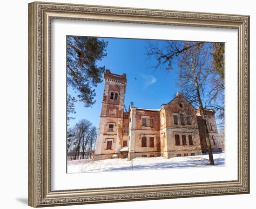
[{"label": "dark green pine branches hanging in the print's upper left corner", "polygon": [[105,66],[97,66],[97,61],[107,55],[107,45],[95,37],[67,38],[67,86],[78,93],[85,107],[95,103],[94,87],[101,83],[105,72]]}]

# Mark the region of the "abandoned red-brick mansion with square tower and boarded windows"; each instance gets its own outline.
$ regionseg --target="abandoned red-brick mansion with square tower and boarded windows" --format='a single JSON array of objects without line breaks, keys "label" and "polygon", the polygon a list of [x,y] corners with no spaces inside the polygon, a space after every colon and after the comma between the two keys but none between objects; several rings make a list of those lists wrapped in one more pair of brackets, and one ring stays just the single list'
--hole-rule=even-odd
[{"label": "abandoned red-brick mansion with square tower and boarded windows", "polygon": [[[157,110],[135,107],[133,103],[126,110],[126,74],[117,75],[107,70],[104,80],[94,160],[170,158],[207,152],[200,109],[189,104],[181,93]],[[207,109],[205,114],[212,150],[221,152],[215,111]]]}]

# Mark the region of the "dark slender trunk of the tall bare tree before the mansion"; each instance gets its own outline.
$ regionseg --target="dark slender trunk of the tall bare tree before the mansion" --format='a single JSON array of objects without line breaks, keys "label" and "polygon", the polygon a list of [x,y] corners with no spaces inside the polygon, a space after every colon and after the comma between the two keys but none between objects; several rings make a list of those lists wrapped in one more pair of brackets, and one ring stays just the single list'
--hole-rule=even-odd
[{"label": "dark slender trunk of the tall bare tree before the mansion", "polygon": [[196,87],[196,93],[197,93],[200,113],[202,115],[202,126],[203,126],[203,131],[205,133],[207,150],[208,150],[208,153],[209,153],[209,162],[210,162],[210,165],[214,165],[214,159],[213,159],[213,155],[212,155],[211,142],[210,142],[209,132],[208,132],[208,129],[207,129],[207,124],[206,124],[206,119],[205,119],[205,112],[204,112],[204,108],[202,106],[202,100],[201,100],[201,96],[200,96],[200,91],[199,91],[198,85],[196,83],[195,83],[195,87]]}]

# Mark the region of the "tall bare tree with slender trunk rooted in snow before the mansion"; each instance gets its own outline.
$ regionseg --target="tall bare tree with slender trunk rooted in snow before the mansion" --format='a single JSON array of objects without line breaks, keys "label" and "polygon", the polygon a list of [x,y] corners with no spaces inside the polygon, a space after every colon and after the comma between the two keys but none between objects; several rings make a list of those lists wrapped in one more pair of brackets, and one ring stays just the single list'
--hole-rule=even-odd
[{"label": "tall bare tree with slender trunk rooted in snow before the mansion", "polygon": [[200,109],[209,153],[209,163],[214,165],[205,117],[206,103],[204,102],[208,90],[208,86],[205,84],[209,82],[209,75],[212,73],[210,46],[211,44],[206,42],[166,41],[162,48],[150,44],[147,54],[156,57],[156,68],[163,65],[166,71],[170,71],[174,69],[174,65],[178,67],[178,86],[185,98]]}]

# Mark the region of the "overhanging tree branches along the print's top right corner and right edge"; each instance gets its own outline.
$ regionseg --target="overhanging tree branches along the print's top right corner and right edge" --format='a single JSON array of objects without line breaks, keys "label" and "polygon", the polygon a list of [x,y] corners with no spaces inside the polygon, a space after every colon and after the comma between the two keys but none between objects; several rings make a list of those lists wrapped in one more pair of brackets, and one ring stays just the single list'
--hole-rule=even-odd
[{"label": "overhanging tree branches along the print's top right corner and right edge", "polygon": [[169,71],[175,68],[176,58],[183,52],[196,47],[208,47],[211,60],[209,67],[212,68],[212,76],[209,80],[211,90],[208,94],[208,108],[216,111],[216,118],[219,119],[218,127],[220,130],[224,127],[224,43],[215,42],[187,42],[186,45],[183,41],[165,41],[164,45],[148,43],[147,54],[156,58],[154,68],[159,68],[162,65],[164,70]]}]

